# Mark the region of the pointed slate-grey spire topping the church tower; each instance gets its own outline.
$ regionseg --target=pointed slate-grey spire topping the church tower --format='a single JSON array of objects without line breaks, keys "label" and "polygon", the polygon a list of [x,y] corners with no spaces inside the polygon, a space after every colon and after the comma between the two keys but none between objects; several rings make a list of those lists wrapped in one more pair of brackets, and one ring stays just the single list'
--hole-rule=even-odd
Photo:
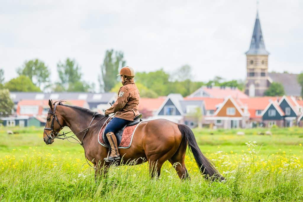
[{"label": "pointed slate-grey spire topping the church tower", "polygon": [[251,43],[249,50],[245,53],[246,55],[268,55],[269,52],[265,50],[264,39],[262,35],[259,15],[257,12],[257,17],[255,21],[254,31],[251,37]]}]

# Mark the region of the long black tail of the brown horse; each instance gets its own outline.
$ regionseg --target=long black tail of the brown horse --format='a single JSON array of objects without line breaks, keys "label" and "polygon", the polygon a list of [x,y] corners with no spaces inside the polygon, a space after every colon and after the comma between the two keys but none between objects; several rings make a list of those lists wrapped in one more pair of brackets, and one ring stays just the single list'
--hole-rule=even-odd
[{"label": "long black tail of the brown horse", "polygon": [[225,178],[219,174],[214,165],[202,154],[191,129],[183,124],[178,124],[178,128],[182,134],[182,139],[185,139],[185,144],[188,144],[189,150],[193,153],[201,174],[206,174],[206,178],[211,180],[224,180]]}]

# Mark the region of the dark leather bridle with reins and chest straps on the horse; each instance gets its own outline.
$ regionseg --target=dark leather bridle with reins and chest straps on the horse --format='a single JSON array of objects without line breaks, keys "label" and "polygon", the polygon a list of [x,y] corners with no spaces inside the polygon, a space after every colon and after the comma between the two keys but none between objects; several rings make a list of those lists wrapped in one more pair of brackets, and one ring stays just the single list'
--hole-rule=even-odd
[{"label": "dark leather bridle with reins and chest straps on the horse", "polygon": [[[64,133],[64,132],[63,132],[62,134],[60,134],[60,133],[58,133],[58,132],[55,132],[55,134],[54,134],[54,121],[55,121],[55,119],[56,119],[57,123],[59,124],[59,126],[61,127],[60,130],[59,130],[59,132],[60,132],[60,131],[62,130],[62,128],[64,127],[64,126],[62,126],[62,125],[60,124],[60,122],[58,121],[57,115],[56,115],[56,108],[57,108],[57,106],[60,105],[60,104],[61,104],[61,102],[55,104],[54,111],[52,111],[51,108],[49,108],[47,114],[52,114],[52,115],[53,115],[53,118],[52,118],[52,127],[51,127],[51,128],[45,127],[44,130],[51,131],[51,134],[48,135],[45,131],[44,131],[44,133],[45,133],[45,134],[47,135],[47,137],[50,138],[50,139],[61,139],[61,140],[65,140],[65,139],[68,140],[68,138],[73,138],[73,139],[75,139],[77,142],[72,142],[72,143],[78,143],[78,144],[80,144],[80,145],[83,147],[83,149],[84,149],[84,155],[85,155],[85,160],[86,160],[86,162],[88,163],[87,158],[86,158],[86,154],[85,154],[85,148],[84,148],[84,146],[83,146],[84,137],[85,137],[85,135],[86,135],[86,133],[87,133],[87,131],[88,131],[89,128],[91,128],[91,127],[93,127],[94,125],[96,125],[97,123],[99,123],[99,122],[100,122],[102,119],[104,119],[106,116],[102,117],[99,121],[97,121],[96,123],[92,124],[92,122],[94,121],[96,115],[98,114],[97,112],[94,113],[94,114],[93,114],[93,117],[92,117],[92,120],[91,120],[91,122],[89,123],[89,126],[88,126],[87,128],[85,128],[84,130],[82,130],[82,131],[80,131],[80,132],[78,132],[78,133],[76,133],[76,134],[73,134],[73,135],[71,135],[71,136],[66,136],[66,134],[68,134],[68,133],[70,133],[70,132],[72,132],[72,131],[69,131],[69,132],[67,132],[67,133]],[[80,133],[82,133],[82,132],[84,132],[84,131],[85,131],[85,134],[83,135],[83,138],[82,138],[81,142],[79,142],[75,137],[73,137],[73,136],[75,136],[75,135],[77,135],[77,134],[80,134]],[[56,135],[56,136],[55,136],[55,135]],[[63,136],[63,137],[60,137],[60,136]],[[69,141],[69,140],[68,140],[68,141]],[[69,141],[69,142],[71,142],[71,141]],[[91,166],[89,163],[88,163],[88,165]],[[92,166],[91,166],[91,167],[92,167]]]}]

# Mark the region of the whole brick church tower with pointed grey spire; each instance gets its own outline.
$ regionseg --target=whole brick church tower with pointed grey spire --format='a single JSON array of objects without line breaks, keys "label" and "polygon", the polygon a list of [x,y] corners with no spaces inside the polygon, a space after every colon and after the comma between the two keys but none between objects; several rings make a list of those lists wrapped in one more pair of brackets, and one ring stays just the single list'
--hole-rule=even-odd
[{"label": "whole brick church tower with pointed grey spire", "polygon": [[250,47],[245,54],[247,69],[245,94],[249,97],[263,96],[268,88],[269,52],[265,50],[258,12]]}]

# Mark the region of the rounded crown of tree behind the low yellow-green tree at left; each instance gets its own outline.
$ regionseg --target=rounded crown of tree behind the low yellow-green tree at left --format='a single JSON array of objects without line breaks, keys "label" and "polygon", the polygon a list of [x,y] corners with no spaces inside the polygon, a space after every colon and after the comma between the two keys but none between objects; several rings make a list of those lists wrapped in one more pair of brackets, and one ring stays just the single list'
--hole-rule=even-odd
[{"label": "rounded crown of tree behind the low yellow-green tree at left", "polygon": [[39,88],[49,83],[50,71],[44,62],[38,59],[25,61],[23,67],[18,68],[17,73],[19,76],[27,76]]}]

